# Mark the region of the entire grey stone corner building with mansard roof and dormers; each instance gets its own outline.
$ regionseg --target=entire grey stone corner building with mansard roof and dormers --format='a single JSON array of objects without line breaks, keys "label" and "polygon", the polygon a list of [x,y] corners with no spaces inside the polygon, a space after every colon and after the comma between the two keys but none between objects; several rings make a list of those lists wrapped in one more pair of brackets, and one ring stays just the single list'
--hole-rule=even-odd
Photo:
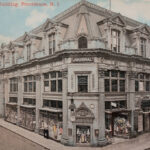
[{"label": "entire grey stone corner building with mansard roof and dormers", "polygon": [[150,131],[149,26],[82,0],[0,53],[7,121],[66,145]]}]

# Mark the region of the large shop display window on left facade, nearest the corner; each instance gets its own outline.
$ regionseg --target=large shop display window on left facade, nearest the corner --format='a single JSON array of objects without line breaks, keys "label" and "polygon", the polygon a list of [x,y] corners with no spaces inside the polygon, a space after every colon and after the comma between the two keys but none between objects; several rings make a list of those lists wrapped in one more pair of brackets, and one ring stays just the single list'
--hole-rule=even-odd
[{"label": "large shop display window on left facade, nearest the corner", "polygon": [[43,135],[44,129],[48,129],[49,138],[60,141],[62,125],[62,109],[40,109],[40,134]]}]

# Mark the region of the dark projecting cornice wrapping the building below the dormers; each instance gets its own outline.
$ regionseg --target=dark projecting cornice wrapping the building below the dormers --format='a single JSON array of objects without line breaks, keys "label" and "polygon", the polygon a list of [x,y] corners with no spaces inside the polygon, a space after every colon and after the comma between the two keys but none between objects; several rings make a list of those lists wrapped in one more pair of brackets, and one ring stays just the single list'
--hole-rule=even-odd
[{"label": "dark projecting cornice wrapping the building below the dormers", "polygon": [[0,69],[0,73],[11,72],[18,69],[28,68],[30,66],[36,66],[37,64],[47,64],[50,62],[60,61],[64,58],[75,58],[75,57],[103,57],[105,59],[114,59],[123,62],[136,62],[141,64],[150,65],[150,59],[142,58],[137,55],[126,55],[122,53],[115,53],[107,49],[64,49],[62,51],[56,52],[52,56],[46,56],[43,58],[33,59],[29,62],[22,64],[16,64],[14,66]]}]

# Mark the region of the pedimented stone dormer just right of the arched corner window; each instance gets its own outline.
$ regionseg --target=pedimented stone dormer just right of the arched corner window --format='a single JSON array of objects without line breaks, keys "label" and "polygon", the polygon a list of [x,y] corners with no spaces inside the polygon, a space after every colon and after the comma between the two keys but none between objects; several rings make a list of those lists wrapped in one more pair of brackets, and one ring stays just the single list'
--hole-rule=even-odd
[{"label": "pedimented stone dormer just right of the arched corner window", "polygon": [[126,22],[121,14],[107,17],[97,23],[107,48],[113,52],[125,49]]}]

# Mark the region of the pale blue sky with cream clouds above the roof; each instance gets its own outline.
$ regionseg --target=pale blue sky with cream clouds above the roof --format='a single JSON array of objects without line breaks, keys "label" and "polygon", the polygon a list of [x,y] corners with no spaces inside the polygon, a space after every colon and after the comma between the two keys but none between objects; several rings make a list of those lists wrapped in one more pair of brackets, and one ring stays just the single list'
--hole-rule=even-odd
[{"label": "pale blue sky with cream clouds above the roof", "polygon": [[[0,44],[15,40],[80,0],[0,0]],[[109,9],[110,0],[88,0]],[[2,6],[4,4],[16,6]],[[40,3],[47,6],[22,6]],[[111,0],[111,10],[150,25],[150,0]]]}]

